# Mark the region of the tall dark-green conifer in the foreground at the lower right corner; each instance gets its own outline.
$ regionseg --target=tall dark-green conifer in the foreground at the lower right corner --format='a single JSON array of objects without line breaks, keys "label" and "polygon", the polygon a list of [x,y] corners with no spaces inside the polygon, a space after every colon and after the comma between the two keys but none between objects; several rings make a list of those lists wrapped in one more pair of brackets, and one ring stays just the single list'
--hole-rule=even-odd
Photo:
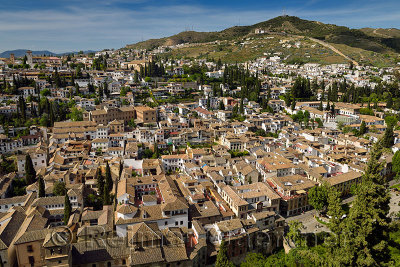
[{"label": "tall dark-green conifer in the foreground at the lower right corner", "polygon": [[383,164],[382,141],[375,144],[370,153],[357,195],[346,219],[343,231],[341,255],[347,266],[377,266],[388,264],[388,226],[390,222],[386,178],[381,175]]}]

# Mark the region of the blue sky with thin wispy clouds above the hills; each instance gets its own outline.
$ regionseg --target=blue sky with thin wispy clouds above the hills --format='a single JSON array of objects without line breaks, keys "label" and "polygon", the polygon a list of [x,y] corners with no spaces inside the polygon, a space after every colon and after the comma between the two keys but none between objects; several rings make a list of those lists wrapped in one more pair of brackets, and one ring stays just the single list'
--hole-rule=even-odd
[{"label": "blue sky with thin wispy clouds above the hills", "polygon": [[0,52],[120,48],[192,28],[250,25],[284,9],[352,28],[400,28],[400,0],[0,0]]}]

